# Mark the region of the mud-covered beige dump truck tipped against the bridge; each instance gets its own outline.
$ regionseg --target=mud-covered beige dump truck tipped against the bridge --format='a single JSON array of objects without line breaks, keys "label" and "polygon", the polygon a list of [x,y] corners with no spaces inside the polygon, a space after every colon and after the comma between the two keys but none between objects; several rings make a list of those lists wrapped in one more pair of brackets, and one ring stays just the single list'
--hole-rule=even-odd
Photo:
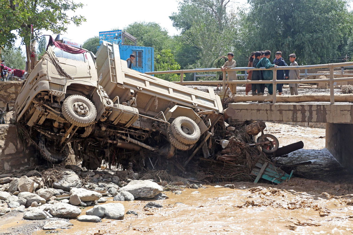
[{"label": "mud-covered beige dump truck tipped against the bridge", "polygon": [[71,45],[50,38],[14,106],[24,139],[50,162],[67,158],[68,143],[88,169],[140,150],[170,158],[200,148],[223,116],[213,89],[128,69],[115,44],[103,42],[96,55]]}]

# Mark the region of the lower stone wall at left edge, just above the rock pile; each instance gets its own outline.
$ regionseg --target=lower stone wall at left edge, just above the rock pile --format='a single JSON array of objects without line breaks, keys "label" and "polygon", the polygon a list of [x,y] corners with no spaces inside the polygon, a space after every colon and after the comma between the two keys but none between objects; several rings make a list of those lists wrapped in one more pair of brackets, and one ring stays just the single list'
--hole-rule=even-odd
[{"label": "lower stone wall at left edge, just above the rock pile", "polygon": [[15,125],[0,124],[0,172],[37,166],[36,151],[24,146]]}]

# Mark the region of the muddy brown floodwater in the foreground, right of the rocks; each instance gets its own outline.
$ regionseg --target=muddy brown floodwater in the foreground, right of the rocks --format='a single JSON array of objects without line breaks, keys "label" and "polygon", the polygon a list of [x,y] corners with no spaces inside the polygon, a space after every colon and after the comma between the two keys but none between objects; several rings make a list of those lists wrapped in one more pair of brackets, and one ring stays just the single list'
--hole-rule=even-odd
[{"label": "muddy brown floodwater in the foreground, right of the rocks", "polygon": [[72,219],[72,228],[57,229],[55,234],[352,234],[350,196],[338,197],[352,186],[294,178],[280,187],[248,182],[235,187],[205,186],[180,195],[166,192],[169,199],[156,201],[163,205],[156,209],[144,209],[147,201],[121,202],[125,211],[134,210],[138,216],[102,223]]}]

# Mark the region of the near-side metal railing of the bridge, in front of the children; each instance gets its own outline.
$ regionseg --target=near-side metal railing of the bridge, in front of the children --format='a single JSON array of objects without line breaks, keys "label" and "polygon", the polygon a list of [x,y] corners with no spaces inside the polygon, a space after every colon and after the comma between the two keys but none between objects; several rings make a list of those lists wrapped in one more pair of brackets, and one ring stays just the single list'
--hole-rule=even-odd
[{"label": "near-side metal railing of the bridge, in front of the children", "polygon": [[[265,67],[254,68],[254,67],[236,67],[228,69],[228,71],[247,71],[247,70],[273,70],[273,79],[272,80],[238,80],[238,81],[227,81],[226,72],[223,72],[223,90],[226,89],[227,84],[273,84],[273,104],[276,103],[276,84],[282,83],[321,83],[327,82],[330,84],[330,103],[335,103],[334,97],[334,82],[344,82],[344,81],[353,81],[352,77],[346,78],[334,78],[334,68],[337,67],[348,67],[353,66],[353,62],[344,62],[344,63],[332,63],[332,64],[314,64],[314,65],[305,65],[305,66],[278,66],[276,68],[265,69]],[[316,68],[329,68],[329,78],[328,79],[306,79],[306,80],[277,80],[277,70],[291,70],[291,69],[316,69]],[[175,82],[180,85],[216,85],[221,83],[220,81],[184,81],[184,73],[198,73],[198,72],[218,72],[221,71],[220,68],[204,68],[204,69],[184,69],[184,70],[170,70],[170,71],[155,71],[155,72],[145,72],[145,74],[169,74],[169,73],[180,73],[180,81]],[[315,74],[319,75],[319,74]],[[337,75],[337,74],[336,74]]]}]

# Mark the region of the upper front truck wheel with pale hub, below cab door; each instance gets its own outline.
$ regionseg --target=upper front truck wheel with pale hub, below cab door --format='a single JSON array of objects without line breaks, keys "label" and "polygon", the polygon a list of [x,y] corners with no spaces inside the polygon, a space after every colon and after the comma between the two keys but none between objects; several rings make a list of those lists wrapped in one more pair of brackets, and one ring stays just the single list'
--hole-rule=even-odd
[{"label": "upper front truck wheel with pale hub, below cab door", "polygon": [[82,95],[70,95],[61,107],[62,114],[75,126],[88,126],[97,116],[94,104]]}]

